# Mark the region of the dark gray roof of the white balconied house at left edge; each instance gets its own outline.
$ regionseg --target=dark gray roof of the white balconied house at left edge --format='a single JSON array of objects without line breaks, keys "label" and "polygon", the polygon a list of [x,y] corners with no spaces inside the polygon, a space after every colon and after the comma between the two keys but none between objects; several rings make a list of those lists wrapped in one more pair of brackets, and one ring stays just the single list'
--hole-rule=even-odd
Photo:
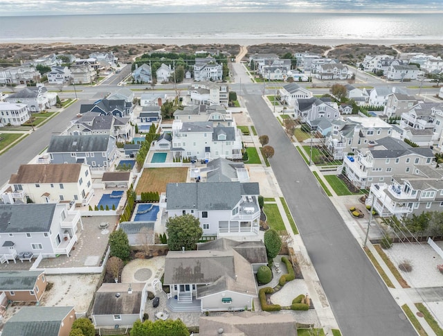
[{"label": "dark gray roof of the white balconied house at left edge", "polygon": [[1,204],[0,233],[48,232],[57,204]]}]

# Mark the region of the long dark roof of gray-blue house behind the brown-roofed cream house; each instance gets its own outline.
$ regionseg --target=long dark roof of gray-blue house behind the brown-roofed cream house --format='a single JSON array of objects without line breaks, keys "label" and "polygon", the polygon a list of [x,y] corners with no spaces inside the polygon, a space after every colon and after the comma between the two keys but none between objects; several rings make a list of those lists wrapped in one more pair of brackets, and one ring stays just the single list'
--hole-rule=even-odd
[{"label": "long dark roof of gray-blue house behind the brown-roofed cream house", "polygon": [[[48,153],[61,152],[106,152],[109,135],[53,135]],[[114,139],[115,141],[115,139]]]}]

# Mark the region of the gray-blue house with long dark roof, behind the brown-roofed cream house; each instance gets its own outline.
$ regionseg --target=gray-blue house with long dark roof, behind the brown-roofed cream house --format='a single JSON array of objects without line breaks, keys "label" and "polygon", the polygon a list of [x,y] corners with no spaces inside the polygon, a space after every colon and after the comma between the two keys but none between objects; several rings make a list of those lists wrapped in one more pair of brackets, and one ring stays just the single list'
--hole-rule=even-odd
[{"label": "gray-blue house with long dark roof, behind the brown-roofed cream house", "polygon": [[91,168],[113,167],[116,138],[109,135],[53,135],[48,150],[51,163],[87,163]]}]

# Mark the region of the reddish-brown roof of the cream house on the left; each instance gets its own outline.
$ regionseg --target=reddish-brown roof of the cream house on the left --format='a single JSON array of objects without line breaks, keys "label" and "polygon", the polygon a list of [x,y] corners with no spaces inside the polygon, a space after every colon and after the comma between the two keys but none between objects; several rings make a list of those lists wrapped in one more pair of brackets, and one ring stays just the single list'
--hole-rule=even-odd
[{"label": "reddish-brown roof of the cream house on the left", "polygon": [[22,164],[17,174],[12,174],[10,184],[77,183],[82,164]]}]

